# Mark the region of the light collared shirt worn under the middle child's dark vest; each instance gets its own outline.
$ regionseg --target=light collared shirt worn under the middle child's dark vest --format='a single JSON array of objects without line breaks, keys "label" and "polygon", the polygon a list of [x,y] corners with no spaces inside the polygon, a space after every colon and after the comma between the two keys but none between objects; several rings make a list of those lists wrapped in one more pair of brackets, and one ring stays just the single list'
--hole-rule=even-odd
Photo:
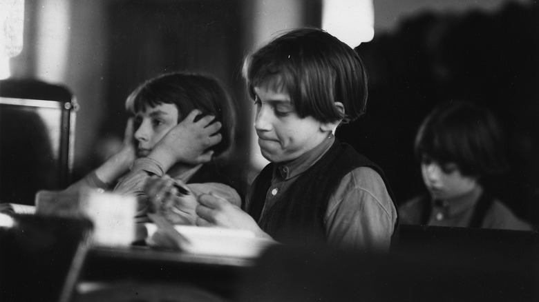
[{"label": "light collared shirt worn under the middle child's dark vest", "polygon": [[[328,152],[334,140],[330,134],[297,159],[276,165],[261,217],[303,172]],[[247,204],[253,189],[252,186]],[[328,245],[341,249],[388,250],[396,221],[397,210],[384,181],[375,170],[367,167],[356,168],[343,177],[324,215]]]}]

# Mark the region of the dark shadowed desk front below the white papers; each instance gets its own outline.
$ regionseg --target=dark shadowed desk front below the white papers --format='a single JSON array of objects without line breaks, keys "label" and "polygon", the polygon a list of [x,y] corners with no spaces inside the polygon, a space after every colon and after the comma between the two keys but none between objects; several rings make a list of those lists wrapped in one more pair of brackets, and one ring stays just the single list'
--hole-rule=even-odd
[{"label": "dark shadowed desk front below the white papers", "polygon": [[82,269],[82,283],[173,283],[234,299],[255,259],[202,256],[148,247],[94,247]]}]

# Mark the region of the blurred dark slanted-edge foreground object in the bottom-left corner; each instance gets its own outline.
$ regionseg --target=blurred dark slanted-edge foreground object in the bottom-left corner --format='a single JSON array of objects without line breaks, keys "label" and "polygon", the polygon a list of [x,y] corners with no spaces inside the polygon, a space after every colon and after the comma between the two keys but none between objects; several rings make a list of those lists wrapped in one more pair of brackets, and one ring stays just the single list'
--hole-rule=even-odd
[{"label": "blurred dark slanted-edge foreground object in the bottom-left corner", "polygon": [[5,214],[0,221],[2,301],[70,301],[88,250],[91,222]]}]

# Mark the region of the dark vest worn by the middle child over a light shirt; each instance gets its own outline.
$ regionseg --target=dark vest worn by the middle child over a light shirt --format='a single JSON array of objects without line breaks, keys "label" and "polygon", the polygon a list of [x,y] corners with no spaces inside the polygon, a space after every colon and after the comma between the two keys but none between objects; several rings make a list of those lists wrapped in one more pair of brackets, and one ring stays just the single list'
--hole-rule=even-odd
[{"label": "dark vest worn by the middle child over a light shirt", "polygon": [[323,219],[328,201],[341,179],[359,167],[369,167],[380,174],[395,205],[395,198],[382,170],[350,145],[335,139],[330,150],[303,172],[260,220],[274,170],[274,164],[269,163],[254,181],[254,192],[247,212],[276,241],[293,245],[325,245]]}]

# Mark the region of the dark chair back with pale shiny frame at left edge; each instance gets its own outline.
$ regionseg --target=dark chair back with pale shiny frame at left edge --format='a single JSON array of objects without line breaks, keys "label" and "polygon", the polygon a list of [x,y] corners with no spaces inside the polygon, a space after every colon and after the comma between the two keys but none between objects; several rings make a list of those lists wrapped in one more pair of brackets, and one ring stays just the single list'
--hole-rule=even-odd
[{"label": "dark chair back with pale shiny frame at left edge", "polygon": [[77,107],[63,86],[0,81],[0,203],[33,205],[38,190],[69,185]]}]

